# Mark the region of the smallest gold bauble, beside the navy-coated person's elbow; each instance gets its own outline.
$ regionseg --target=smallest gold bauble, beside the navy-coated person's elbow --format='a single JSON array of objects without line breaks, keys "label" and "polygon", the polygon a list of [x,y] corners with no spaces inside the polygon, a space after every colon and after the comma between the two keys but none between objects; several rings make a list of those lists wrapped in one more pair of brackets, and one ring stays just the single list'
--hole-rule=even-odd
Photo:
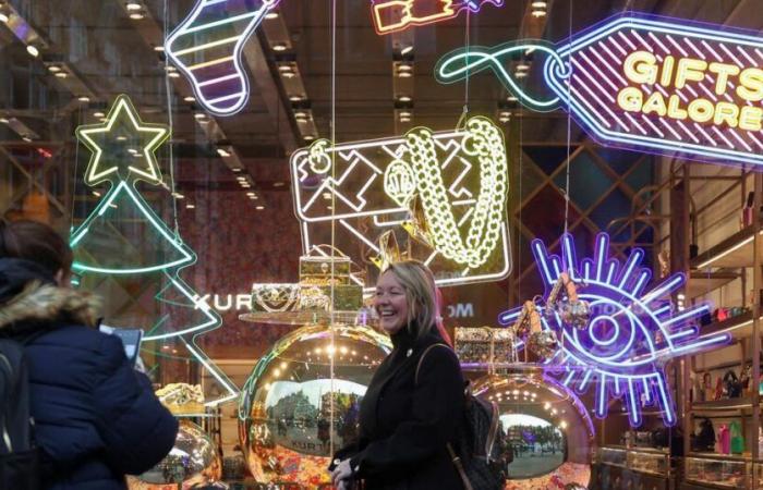
[{"label": "smallest gold bauble, beside the navy-coated person's elbow", "polygon": [[180,421],[170,453],[148,471],[129,477],[130,490],[183,489],[220,479],[222,464],[215,443],[196,424]]}]

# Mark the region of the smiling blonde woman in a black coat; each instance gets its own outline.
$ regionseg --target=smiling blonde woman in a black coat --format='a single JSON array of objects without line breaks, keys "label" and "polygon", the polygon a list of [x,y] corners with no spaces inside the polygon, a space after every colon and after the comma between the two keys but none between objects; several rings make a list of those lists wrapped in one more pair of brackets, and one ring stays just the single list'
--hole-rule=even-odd
[{"label": "smiling blonde woman in a black coat", "polygon": [[366,490],[463,489],[447,449],[458,448],[463,420],[459,360],[445,346],[422,357],[446,342],[436,297],[434,277],[421,262],[391,264],[379,277],[374,307],[393,348],[361,402],[358,442],[334,456],[329,469],[340,490],[359,481]]}]

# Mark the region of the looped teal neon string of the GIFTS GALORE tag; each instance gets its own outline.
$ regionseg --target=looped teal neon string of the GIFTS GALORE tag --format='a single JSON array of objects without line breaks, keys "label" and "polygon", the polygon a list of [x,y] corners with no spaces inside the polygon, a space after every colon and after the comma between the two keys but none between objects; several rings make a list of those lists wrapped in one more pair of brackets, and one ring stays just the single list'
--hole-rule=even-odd
[{"label": "looped teal neon string of the GIFTS GALORE tag", "polygon": [[570,75],[571,72],[569,69],[565,69],[568,64],[562,61],[553,45],[535,41],[520,44],[506,42],[495,48],[470,46],[468,48],[458,49],[446,54],[437,62],[435,66],[435,77],[439,83],[451,84],[468,78],[474,73],[492,69],[506,88],[516,95],[523,105],[529,106],[533,110],[545,112],[562,107],[562,100],[559,96],[547,100],[541,100],[529,95],[520,87],[516,77],[506,71],[501,62],[502,58],[516,52],[528,51],[542,51],[548,54],[549,58],[545,68],[546,70],[553,68],[553,71],[546,72],[546,76],[548,76],[548,73],[553,73],[555,78],[564,79]]}]

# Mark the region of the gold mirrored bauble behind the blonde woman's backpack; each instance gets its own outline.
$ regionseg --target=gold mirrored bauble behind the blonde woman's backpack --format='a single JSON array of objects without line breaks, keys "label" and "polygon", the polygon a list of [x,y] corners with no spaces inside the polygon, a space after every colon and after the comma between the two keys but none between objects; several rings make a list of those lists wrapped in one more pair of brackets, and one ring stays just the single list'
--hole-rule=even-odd
[{"label": "gold mirrored bauble behind the blonde woman's backpack", "polygon": [[513,449],[506,490],[588,486],[594,427],[585,406],[541,367],[516,365],[476,380],[473,393],[496,402]]}]

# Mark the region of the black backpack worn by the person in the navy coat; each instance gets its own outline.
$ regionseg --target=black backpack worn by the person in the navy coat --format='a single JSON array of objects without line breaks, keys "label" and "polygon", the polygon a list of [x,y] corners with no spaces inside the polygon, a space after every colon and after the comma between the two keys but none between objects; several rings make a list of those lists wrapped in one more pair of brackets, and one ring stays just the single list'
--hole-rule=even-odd
[{"label": "black backpack worn by the person in the navy coat", "polygon": [[40,488],[33,429],[24,347],[16,341],[0,339],[0,489]]}]

